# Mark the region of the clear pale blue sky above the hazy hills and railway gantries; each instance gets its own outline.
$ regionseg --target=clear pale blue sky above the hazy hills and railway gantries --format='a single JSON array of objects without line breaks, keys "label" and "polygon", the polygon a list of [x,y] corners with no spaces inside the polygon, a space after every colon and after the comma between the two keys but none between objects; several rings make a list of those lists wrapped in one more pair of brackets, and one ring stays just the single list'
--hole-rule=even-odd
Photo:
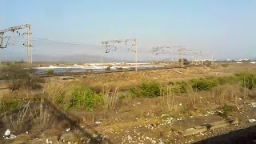
[{"label": "clear pale blue sky above the hazy hills and railway gantries", "polygon": [[[254,0],[0,0],[0,5],[0,30],[30,23],[32,39],[84,44],[32,42],[34,55],[101,55],[104,40],[138,38],[143,60],[172,58],[172,51],[152,56],[152,47],[177,45],[213,52],[216,59],[256,58]],[[22,40],[10,36],[0,57],[26,58]],[[125,46],[105,56],[134,58]]]}]

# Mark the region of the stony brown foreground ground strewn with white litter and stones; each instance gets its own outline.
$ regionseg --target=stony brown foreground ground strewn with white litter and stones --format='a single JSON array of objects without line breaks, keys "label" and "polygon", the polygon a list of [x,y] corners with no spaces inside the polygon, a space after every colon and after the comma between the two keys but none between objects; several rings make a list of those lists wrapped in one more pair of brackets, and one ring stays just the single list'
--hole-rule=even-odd
[{"label": "stony brown foreground ground strewn with white litter and stones", "polygon": [[[140,109],[143,103],[133,105]],[[55,117],[52,123],[48,123],[45,128],[40,126],[21,127],[19,130],[10,130],[14,138],[0,138],[1,143],[194,143],[201,142],[206,138],[214,138],[217,135],[229,133],[230,131],[245,129],[256,126],[256,122],[249,122],[256,118],[256,104],[253,101],[239,102],[234,106],[230,117],[238,118],[236,125],[225,126],[216,130],[210,130],[190,136],[182,136],[180,131],[204,123],[217,122],[223,120],[219,115],[219,109],[206,110],[194,114],[152,114],[150,110],[143,118],[134,118],[130,112],[109,114],[109,116],[99,117],[95,114],[94,123],[89,122],[88,115],[74,113],[68,118],[61,112],[51,110]],[[62,115],[63,114],[63,115]],[[30,114],[29,114],[30,115]],[[102,115],[102,114],[99,114]],[[106,114],[107,115],[107,114]],[[123,117],[122,117],[123,116]],[[27,119],[29,122],[29,119]],[[28,124],[28,123],[26,123]],[[53,126],[54,125],[54,126]],[[1,126],[1,125],[0,125]],[[10,125],[8,125],[10,126]],[[1,134],[5,136],[8,128],[2,123]],[[24,129],[24,130],[22,130]],[[228,135],[228,134],[227,134]],[[234,135],[234,134],[233,134]],[[227,137],[227,136],[226,136]]]}]

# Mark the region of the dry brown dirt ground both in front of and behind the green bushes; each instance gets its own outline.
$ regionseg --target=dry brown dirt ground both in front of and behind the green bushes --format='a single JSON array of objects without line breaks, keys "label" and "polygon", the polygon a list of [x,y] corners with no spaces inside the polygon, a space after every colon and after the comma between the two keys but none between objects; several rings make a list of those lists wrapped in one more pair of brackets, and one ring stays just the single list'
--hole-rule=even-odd
[{"label": "dry brown dirt ground both in front of and behind the green bushes", "polygon": [[[134,72],[123,72],[117,74],[88,74],[76,78],[74,82],[84,82],[94,90],[102,90],[102,86],[119,86],[120,90],[126,90],[130,86],[136,86],[142,80],[156,80],[158,82],[174,82],[190,78],[204,77],[207,75],[230,75],[240,70],[256,71],[256,65],[252,64],[230,64],[227,67],[218,66],[210,69],[208,67],[190,67],[186,69],[152,70]],[[56,78],[48,79],[50,82],[59,82]],[[230,88],[232,89],[232,88]],[[228,95],[227,93],[226,95]],[[204,97],[202,98],[201,95]],[[17,137],[12,140],[4,140],[1,143],[47,143],[56,141],[62,143],[194,143],[203,142],[206,138],[212,138],[220,134],[226,134],[233,130],[240,130],[255,126],[256,107],[252,105],[255,99],[248,98],[242,94],[229,97],[228,102],[235,103],[230,110],[230,118],[238,118],[237,125],[225,126],[216,130],[194,134],[183,137],[180,131],[201,126],[205,123],[224,120],[218,114],[222,110],[222,104],[211,92],[202,92],[198,96],[194,94],[183,94],[175,96],[174,106],[167,109],[162,103],[162,98],[132,98],[118,102],[115,110],[98,109],[93,112],[85,110],[71,110],[62,112],[58,106],[51,104],[44,106],[45,111],[40,111],[40,106],[31,106],[26,115],[27,123],[22,129],[11,130]],[[50,103],[50,102],[49,102]],[[33,108],[32,108],[33,107]],[[18,115],[20,110],[15,113]],[[36,114],[45,114],[35,118]],[[4,134],[9,125],[3,121],[5,115],[1,115],[0,133]],[[9,116],[10,117],[10,116]],[[5,117],[7,118],[7,117]],[[42,121],[46,118],[47,121]],[[13,119],[12,119],[13,120]],[[7,121],[8,122],[8,121]],[[38,122],[44,122],[39,126]],[[47,140],[48,139],[48,140]],[[65,139],[65,142],[63,142]]]}]

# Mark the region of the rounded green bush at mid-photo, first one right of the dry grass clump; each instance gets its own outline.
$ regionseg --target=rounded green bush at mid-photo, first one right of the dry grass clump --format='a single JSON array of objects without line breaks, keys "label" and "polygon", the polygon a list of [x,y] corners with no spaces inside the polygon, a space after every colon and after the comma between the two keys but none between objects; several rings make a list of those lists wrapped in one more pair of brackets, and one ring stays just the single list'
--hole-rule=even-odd
[{"label": "rounded green bush at mid-photo, first one right of the dry grass clump", "polygon": [[153,98],[160,96],[160,84],[158,82],[142,82],[138,87],[131,87],[133,97]]}]

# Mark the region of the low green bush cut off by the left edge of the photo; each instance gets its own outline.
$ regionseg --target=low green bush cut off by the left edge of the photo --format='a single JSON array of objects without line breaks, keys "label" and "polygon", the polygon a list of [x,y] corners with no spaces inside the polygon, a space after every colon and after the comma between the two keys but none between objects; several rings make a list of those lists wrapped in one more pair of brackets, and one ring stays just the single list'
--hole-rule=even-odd
[{"label": "low green bush cut off by the left edge of the photo", "polygon": [[14,110],[20,104],[21,102],[17,98],[3,98],[0,101],[0,111]]}]

